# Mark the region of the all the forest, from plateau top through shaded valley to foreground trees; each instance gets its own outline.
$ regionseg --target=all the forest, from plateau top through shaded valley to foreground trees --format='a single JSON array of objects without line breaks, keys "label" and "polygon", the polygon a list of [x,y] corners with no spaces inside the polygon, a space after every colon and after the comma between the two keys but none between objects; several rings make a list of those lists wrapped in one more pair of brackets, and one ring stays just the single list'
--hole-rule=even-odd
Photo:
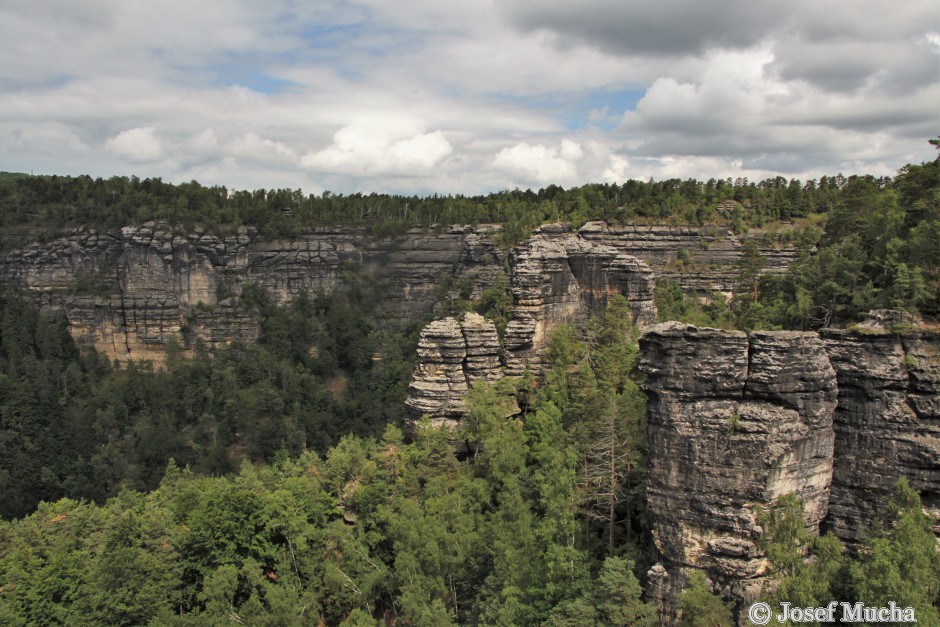
[{"label": "all the forest, from plateau top through shaded valley to foreground trees", "polygon": [[[733,210],[719,212],[730,201]],[[731,297],[657,286],[661,320],[740,329],[850,325],[869,309],[940,314],[940,159],[893,178],[629,181],[481,197],[229,192],[159,179],[0,175],[0,244],[146,220],[285,237],[322,224],[721,224],[796,237],[784,275],[745,240]],[[799,230],[774,225],[802,221]],[[751,243],[748,243],[751,242]],[[508,285],[434,313],[505,315]],[[240,295],[256,344],[116,367],[61,316],[0,293],[0,623],[642,625],[655,561],[645,509],[638,330],[615,299],[551,338],[539,377],[475,387],[456,435],[404,429],[421,323],[384,329],[366,284],[276,304]],[[510,301],[511,302],[511,301]],[[505,321],[503,321],[505,324]],[[374,360],[375,354],[381,360]],[[510,418],[512,399],[521,413]],[[455,454],[455,441],[466,452]],[[768,600],[894,600],[940,624],[940,555],[918,496],[859,547],[766,512]],[[812,559],[805,559],[812,556]],[[686,624],[731,624],[704,578]]]}]

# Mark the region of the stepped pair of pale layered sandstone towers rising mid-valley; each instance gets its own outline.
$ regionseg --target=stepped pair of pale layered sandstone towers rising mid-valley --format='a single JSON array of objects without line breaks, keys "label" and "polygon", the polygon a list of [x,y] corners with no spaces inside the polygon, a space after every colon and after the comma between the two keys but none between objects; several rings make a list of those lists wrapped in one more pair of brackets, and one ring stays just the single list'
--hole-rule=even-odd
[{"label": "stepped pair of pale layered sandstone towers rising mid-valley", "polygon": [[509,284],[513,306],[503,341],[504,364],[496,327],[479,316],[467,314],[459,323],[436,320],[421,332],[406,401],[413,418],[427,414],[454,427],[466,413],[469,384],[520,375],[526,368],[537,373],[552,331],[603,313],[613,295],[626,297],[634,322],[656,320],[653,273],[645,263],[558,225],[542,227],[525,246],[513,249]]}]

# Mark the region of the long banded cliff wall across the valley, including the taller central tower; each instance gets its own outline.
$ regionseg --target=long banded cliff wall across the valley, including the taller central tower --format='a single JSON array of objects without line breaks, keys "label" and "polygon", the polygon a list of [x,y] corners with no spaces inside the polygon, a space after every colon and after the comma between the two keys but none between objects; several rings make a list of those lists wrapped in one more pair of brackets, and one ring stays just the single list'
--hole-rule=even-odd
[{"label": "long banded cliff wall across the valley, including the taller central tower", "polygon": [[[321,227],[292,240],[265,240],[251,228],[219,236],[148,222],[110,232],[75,229],[0,257],[0,280],[65,311],[73,335],[108,357],[163,358],[171,339],[184,345],[257,337],[258,321],[238,306],[247,283],[287,300],[342,287],[350,271],[380,289],[390,323],[424,316],[445,277],[474,278],[478,295],[506,261],[493,242],[498,226],[412,229],[392,237],[355,227]],[[507,334],[513,370],[535,360],[553,321],[578,321],[603,306],[605,290],[635,295],[638,320],[650,321],[649,267],[689,289],[730,289],[740,241],[714,228],[608,227],[577,234],[547,226],[514,254],[517,321]],[[680,250],[692,268],[676,268]],[[767,249],[768,271],[792,251]],[[526,281],[529,283],[526,284]],[[646,292],[649,292],[647,294]]]}]

